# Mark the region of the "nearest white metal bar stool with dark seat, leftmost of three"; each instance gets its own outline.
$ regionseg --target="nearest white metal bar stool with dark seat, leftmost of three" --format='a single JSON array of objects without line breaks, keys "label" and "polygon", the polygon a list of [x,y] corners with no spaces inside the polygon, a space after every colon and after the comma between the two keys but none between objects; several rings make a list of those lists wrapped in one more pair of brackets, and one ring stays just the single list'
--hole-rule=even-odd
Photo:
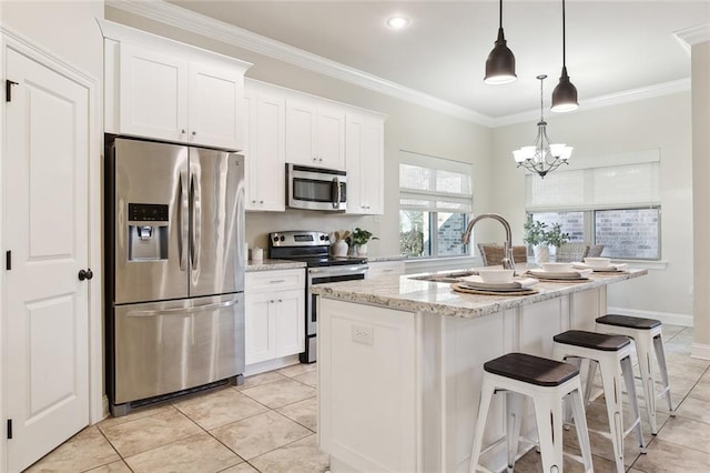
[{"label": "nearest white metal bar stool with dark seat, leftmost of three", "polygon": [[581,399],[579,371],[569,363],[534,356],[525,353],[508,353],[484,364],[483,388],[474,445],[471,447],[469,472],[487,472],[478,464],[480,454],[493,449],[500,439],[481,452],[483,436],[490,401],[494,394],[506,394],[506,436],[508,447],[508,471],[513,471],[520,437],[525,396],[532,399],[539,437],[540,455],[545,472],[562,471],[562,399],[569,394],[581,459],[575,457],[591,472],[591,447],[587,432],[585,406]]}]

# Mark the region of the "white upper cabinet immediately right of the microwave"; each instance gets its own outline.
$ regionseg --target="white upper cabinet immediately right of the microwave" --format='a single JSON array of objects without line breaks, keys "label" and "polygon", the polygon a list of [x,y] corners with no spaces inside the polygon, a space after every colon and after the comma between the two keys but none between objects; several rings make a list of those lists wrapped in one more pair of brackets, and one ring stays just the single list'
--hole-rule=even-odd
[{"label": "white upper cabinet immediately right of the microwave", "polygon": [[384,211],[384,118],[347,113],[347,213],[382,214]]}]

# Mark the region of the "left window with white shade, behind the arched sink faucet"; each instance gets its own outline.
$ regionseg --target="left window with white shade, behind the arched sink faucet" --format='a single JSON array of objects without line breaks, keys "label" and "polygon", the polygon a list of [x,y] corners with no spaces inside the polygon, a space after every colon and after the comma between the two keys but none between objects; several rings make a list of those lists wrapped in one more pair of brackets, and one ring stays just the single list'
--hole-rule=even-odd
[{"label": "left window with white shade, behind the arched sink faucet", "polygon": [[462,234],[471,210],[471,167],[402,151],[399,250],[409,256],[468,254]]}]

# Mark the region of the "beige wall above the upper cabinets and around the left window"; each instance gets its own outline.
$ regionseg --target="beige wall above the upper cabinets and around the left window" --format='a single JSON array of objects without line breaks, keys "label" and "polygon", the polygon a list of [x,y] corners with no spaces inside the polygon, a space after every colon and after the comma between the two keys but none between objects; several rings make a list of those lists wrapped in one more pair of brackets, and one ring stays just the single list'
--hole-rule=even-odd
[{"label": "beige wall above the upper cabinets and around the left window", "polygon": [[[399,253],[398,244],[398,152],[408,150],[474,164],[474,208],[490,207],[490,131],[465,120],[393,99],[339,80],[300,69],[274,59],[221,43],[209,38],[106,7],[106,19],[179,41],[232,56],[254,66],[246,72],[253,79],[375,110],[385,121],[385,214],[381,218],[335,215],[287,210],[284,213],[248,212],[246,235],[250,246],[266,245],[266,233],[280,230],[334,231],[362,227],[381,240],[368,245],[371,255]],[[501,232],[500,232],[501,233]],[[485,238],[485,236],[481,236]],[[496,233],[490,236],[501,240]]]}]

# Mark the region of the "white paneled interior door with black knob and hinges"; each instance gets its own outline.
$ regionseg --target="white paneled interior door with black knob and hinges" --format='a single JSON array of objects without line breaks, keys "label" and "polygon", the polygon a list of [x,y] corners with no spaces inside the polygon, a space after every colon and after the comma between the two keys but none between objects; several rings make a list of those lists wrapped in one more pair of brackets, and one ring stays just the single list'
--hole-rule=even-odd
[{"label": "white paneled interior door with black knob and hinges", "polygon": [[89,90],[7,49],[3,366],[8,470],[89,424]]}]

